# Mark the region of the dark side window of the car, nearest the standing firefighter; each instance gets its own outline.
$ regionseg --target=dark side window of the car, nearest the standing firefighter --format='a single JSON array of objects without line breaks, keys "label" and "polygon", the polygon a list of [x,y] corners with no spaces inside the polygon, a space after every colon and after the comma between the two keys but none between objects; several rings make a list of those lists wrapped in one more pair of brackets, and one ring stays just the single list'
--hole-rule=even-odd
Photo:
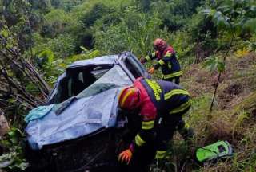
[{"label": "dark side window of the car, nearest the standing firefighter", "polygon": [[142,68],[142,66],[134,59],[134,57],[129,56],[125,60],[126,67],[129,69],[129,71],[133,74],[135,78],[144,76],[145,70]]}]

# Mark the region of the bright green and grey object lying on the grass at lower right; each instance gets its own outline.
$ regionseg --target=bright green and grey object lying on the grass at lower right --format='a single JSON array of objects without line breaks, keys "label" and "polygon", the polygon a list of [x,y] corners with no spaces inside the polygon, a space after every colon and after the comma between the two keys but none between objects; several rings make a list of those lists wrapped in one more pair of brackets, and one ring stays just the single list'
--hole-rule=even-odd
[{"label": "bright green and grey object lying on the grass at lower right", "polygon": [[201,163],[231,157],[232,155],[233,149],[227,141],[218,141],[206,147],[198,148],[196,151],[197,161]]}]

